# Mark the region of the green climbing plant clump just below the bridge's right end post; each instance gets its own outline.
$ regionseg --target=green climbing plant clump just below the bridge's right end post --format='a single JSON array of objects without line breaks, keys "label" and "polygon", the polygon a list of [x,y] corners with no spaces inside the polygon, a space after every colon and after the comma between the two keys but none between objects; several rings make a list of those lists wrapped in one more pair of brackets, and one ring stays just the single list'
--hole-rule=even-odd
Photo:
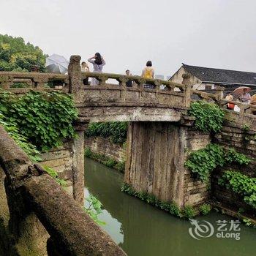
[{"label": "green climbing plant clump just below the bridge's right end post", "polygon": [[225,116],[224,111],[214,103],[192,102],[189,115],[195,116],[195,127],[203,132],[219,132]]}]

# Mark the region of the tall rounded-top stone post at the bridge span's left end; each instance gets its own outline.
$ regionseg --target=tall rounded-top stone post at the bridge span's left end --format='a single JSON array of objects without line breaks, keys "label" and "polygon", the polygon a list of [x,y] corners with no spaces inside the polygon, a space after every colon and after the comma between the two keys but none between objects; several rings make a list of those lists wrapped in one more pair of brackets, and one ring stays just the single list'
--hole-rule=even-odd
[{"label": "tall rounded-top stone post at the bridge span's left end", "polygon": [[78,55],[70,56],[69,74],[69,93],[73,94],[75,102],[79,102],[79,92],[81,89],[82,72],[80,67],[81,57]]}]

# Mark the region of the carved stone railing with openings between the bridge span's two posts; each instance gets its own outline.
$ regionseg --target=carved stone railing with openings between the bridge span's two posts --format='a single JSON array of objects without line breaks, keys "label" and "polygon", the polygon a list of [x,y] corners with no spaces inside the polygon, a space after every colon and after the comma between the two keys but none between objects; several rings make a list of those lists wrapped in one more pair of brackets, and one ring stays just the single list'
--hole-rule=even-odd
[{"label": "carved stone railing with openings between the bridge span's two posts", "polygon": [[[80,102],[86,105],[93,102],[112,102],[116,104],[126,102],[134,106],[144,103],[150,105],[165,105],[167,108],[188,107],[185,99],[187,87],[178,83],[166,80],[146,79],[133,75],[82,72],[81,81],[86,78],[96,78],[99,80],[99,85],[97,86],[81,86]],[[109,81],[110,83],[108,83]],[[132,86],[127,86],[128,81],[132,82]],[[146,84],[151,85],[152,89],[146,89],[144,86]]]}]

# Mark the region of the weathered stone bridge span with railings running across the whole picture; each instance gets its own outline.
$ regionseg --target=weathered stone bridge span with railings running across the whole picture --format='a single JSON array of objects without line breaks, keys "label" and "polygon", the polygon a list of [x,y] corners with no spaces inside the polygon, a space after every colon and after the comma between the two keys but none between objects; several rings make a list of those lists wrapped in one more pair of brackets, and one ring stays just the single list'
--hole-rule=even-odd
[{"label": "weathered stone bridge span with railings running across the whole picture", "polygon": [[[84,85],[86,78],[95,78],[99,85]],[[132,87],[127,86],[132,81]],[[150,84],[152,89],[146,89]],[[225,108],[227,103],[238,105],[238,115],[255,118],[256,105],[246,105],[223,99],[223,88],[216,94],[192,90],[189,75],[182,84],[166,80],[145,79],[99,72],[81,72],[80,56],[71,56],[68,75],[39,72],[0,72],[0,88],[15,94],[34,91],[64,91],[74,94],[83,121],[179,121],[181,113],[197,99],[215,102]]]}]

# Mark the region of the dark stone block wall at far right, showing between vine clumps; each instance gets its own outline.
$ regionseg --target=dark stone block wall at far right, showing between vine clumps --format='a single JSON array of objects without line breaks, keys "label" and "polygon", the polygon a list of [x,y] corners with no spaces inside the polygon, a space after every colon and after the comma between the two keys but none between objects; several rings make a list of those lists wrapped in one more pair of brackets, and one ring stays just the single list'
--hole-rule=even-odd
[{"label": "dark stone block wall at far right, showing between vine clumps", "polygon": [[214,137],[214,142],[222,146],[233,147],[236,151],[252,158],[252,162],[246,166],[228,165],[213,173],[211,181],[212,196],[217,202],[224,204],[234,210],[244,208],[248,212],[254,212],[250,206],[244,203],[243,197],[232,192],[230,189],[218,185],[218,178],[222,176],[225,170],[236,170],[240,173],[256,178],[256,129],[244,124],[236,124],[231,121],[225,121],[222,131]]}]

